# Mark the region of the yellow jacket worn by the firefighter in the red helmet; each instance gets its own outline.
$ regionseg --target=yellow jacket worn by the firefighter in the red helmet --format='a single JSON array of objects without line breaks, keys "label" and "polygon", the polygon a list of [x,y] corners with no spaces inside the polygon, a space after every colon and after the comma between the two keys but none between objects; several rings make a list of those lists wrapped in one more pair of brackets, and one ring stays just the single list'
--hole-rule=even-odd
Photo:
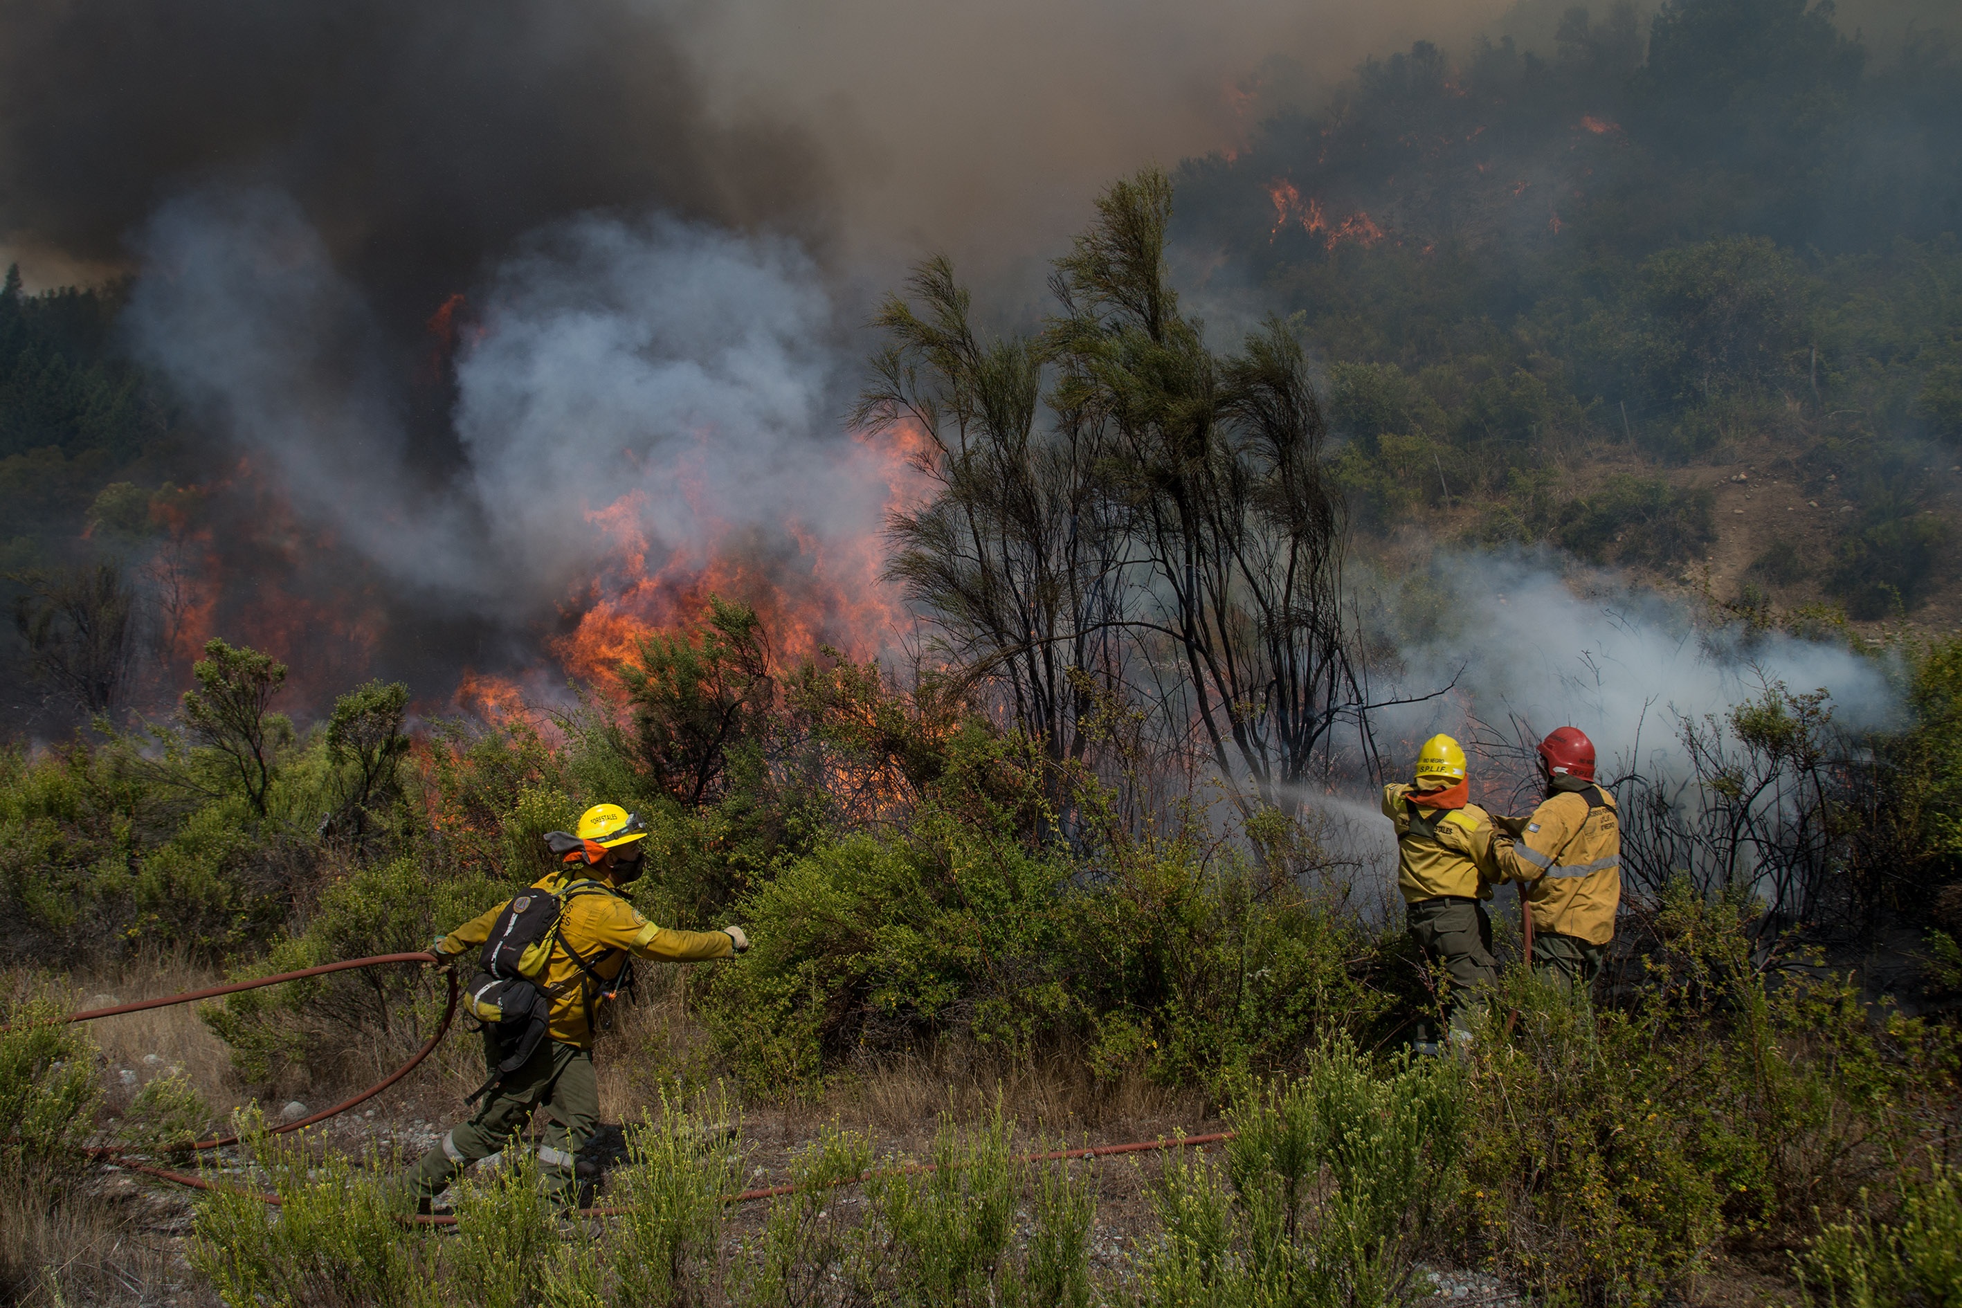
[{"label": "yellow jacket worn by the firefighter in the red helmet", "polygon": [[1554,784],[1517,839],[1495,841],[1499,871],[1526,886],[1534,931],[1605,945],[1621,908],[1621,814],[1615,796],[1593,782]]}]

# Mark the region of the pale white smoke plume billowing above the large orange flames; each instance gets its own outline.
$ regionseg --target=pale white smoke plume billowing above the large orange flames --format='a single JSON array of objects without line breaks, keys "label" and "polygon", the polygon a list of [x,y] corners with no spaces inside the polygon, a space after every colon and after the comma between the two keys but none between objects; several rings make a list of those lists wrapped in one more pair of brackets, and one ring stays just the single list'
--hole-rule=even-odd
[{"label": "pale white smoke plume billowing above the large orange flames", "polygon": [[461,467],[438,480],[410,467],[408,378],[290,200],[188,196],[139,249],[137,353],[434,600],[536,616],[624,543],[653,571],[718,539],[795,553],[879,529],[889,488],[838,422],[836,314],[789,239],[581,216],[526,241],[459,345]]}]

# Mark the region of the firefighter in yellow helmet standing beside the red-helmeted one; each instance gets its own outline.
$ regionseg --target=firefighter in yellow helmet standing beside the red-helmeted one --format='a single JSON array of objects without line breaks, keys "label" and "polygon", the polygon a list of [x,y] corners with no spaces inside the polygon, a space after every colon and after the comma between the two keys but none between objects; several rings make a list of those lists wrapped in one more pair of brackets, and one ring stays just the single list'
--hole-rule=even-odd
[{"label": "firefighter in yellow helmet standing beside the red-helmeted one", "polygon": [[[1470,802],[1466,751],[1450,735],[1432,735],[1417,751],[1413,782],[1383,786],[1383,816],[1397,828],[1397,888],[1411,939],[1450,975],[1450,1037],[1464,1041],[1472,1004],[1499,981],[1483,904],[1499,880],[1493,822]],[[1419,1049],[1434,1053],[1436,1045],[1419,1041]]]}]

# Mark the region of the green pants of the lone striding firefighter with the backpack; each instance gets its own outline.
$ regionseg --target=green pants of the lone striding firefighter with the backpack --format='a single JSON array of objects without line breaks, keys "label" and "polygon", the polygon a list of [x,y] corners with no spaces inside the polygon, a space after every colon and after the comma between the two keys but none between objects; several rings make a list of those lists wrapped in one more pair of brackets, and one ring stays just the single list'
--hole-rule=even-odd
[{"label": "green pants of the lone striding firefighter with the backpack", "polygon": [[[496,1035],[487,1030],[485,1067],[496,1067],[500,1057]],[[545,1141],[538,1149],[538,1171],[553,1202],[577,1208],[579,1177],[573,1169],[579,1147],[593,1139],[593,1130],[600,1122],[600,1082],[593,1075],[591,1049],[575,1049],[555,1039],[540,1041],[532,1059],[485,1096],[475,1118],[449,1128],[436,1147],[422,1155],[412,1175],[416,1198],[441,1194],[465,1167],[502,1151],[540,1104],[551,1114],[551,1122],[545,1124]]]}]

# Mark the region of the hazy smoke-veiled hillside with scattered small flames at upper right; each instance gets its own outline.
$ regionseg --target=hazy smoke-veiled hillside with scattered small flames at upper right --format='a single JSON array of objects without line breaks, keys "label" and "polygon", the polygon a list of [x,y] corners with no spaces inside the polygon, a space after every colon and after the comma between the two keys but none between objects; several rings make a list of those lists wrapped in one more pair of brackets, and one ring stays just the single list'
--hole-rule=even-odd
[{"label": "hazy smoke-veiled hillside with scattered small flames at upper right", "polygon": [[[1175,176],[1207,302],[1324,353],[1379,531],[1652,579],[1744,535],[1727,600],[1923,612],[1962,461],[1952,35],[1870,51],[1831,6],[1721,0],[1572,8],[1552,45],[1419,43],[1328,104],[1267,65],[1248,147]],[[1740,471],[1805,512],[1746,510]]]}]

